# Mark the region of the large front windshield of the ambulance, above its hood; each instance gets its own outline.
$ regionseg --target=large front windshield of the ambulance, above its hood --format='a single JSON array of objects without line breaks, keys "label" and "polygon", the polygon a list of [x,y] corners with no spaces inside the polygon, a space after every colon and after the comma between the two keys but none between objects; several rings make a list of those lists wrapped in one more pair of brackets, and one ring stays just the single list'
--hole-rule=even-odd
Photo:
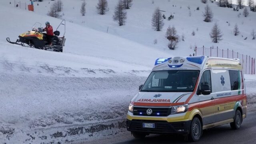
[{"label": "large front windshield of the ambulance, above its hood", "polygon": [[140,92],[193,92],[199,70],[153,71]]}]

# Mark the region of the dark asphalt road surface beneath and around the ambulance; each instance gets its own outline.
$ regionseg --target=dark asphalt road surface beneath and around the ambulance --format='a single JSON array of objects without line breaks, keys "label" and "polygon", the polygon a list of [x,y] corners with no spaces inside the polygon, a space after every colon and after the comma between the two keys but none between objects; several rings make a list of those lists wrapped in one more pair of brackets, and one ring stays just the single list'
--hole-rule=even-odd
[{"label": "dark asphalt road surface beneath and around the ambulance", "polygon": [[[98,140],[94,144],[188,144],[183,136],[149,135],[143,140],[137,140],[129,132]],[[204,130],[198,142],[193,144],[255,144],[256,143],[256,111],[248,113],[239,130],[232,130],[229,124]]]}]

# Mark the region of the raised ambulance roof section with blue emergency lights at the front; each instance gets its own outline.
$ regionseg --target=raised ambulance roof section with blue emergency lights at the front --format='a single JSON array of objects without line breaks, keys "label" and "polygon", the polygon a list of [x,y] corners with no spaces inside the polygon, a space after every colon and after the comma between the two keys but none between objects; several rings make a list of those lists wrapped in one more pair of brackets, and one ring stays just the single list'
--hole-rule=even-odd
[{"label": "raised ambulance roof section with blue emergency lights at the front", "polygon": [[239,59],[208,56],[158,58],[152,71],[156,70],[204,70],[206,68],[231,68],[242,70]]}]

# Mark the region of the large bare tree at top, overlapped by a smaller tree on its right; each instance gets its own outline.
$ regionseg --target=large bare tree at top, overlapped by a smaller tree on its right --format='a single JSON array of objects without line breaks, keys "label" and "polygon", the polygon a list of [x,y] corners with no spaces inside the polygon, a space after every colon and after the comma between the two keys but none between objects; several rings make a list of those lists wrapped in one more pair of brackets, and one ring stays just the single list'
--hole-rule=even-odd
[{"label": "large bare tree at top, overlapped by a smaller tree on its right", "polygon": [[122,4],[122,0],[118,1],[118,4],[115,8],[113,20],[118,22],[119,26],[125,24],[126,20],[126,11],[124,10],[124,5]]}]

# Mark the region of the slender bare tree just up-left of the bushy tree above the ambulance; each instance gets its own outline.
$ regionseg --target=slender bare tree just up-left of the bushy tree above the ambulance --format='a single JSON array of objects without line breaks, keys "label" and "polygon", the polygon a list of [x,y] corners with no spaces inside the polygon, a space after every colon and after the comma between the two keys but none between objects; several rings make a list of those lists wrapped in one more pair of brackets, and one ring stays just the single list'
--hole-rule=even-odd
[{"label": "slender bare tree just up-left of the bushy tree above the ambulance", "polygon": [[161,31],[164,26],[164,20],[160,12],[159,7],[157,7],[152,15],[151,24],[154,30]]}]

